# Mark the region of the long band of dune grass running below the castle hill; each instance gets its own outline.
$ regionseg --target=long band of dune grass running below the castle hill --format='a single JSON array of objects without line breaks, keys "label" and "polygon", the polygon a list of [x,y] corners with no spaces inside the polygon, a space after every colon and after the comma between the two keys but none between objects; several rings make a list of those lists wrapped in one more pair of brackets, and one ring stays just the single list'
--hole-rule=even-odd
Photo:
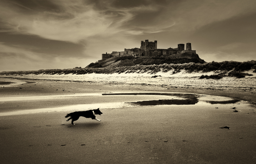
[{"label": "long band of dune grass running below the castle hill", "polygon": [[[112,62],[105,61],[104,64],[110,62],[115,64],[118,61],[124,61],[132,59],[133,57],[123,56],[119,58],[112,59]],[[102,64],[102,63],[101,63]],[[200,78],[212,78],[212,79],[221,79],[225,76],[243,78],[245,76],[251,76],[251,74],[243,73],[244,71],[249,71],[250,69],[253,72],[256,72],[256,61],[247,61],[247,62],[236,62],[236,61],[224,61],[224,62],[209,62],[209,63],[184,63],[184,64],[153,64],[153,65],[133,65],[133,66],[119,66],[119,65],[109,65],[99,68],[81,68],[75,67],[71,69],[40,69],[38,71],[9,71],[9,72],[0,72],[0,75],[28,75],[28,74],[48,74],[48,75],[61,75],[61,74],[113,74],[113,73],[148,73],[155,74],[158,72],[168,72],[171,71],[172,74],[181,72],[185,70],[187,73],[192,72],[222,72],[220,74],[214,75],[204,75]],[[229,73],[227,73],[229,72]]]}]

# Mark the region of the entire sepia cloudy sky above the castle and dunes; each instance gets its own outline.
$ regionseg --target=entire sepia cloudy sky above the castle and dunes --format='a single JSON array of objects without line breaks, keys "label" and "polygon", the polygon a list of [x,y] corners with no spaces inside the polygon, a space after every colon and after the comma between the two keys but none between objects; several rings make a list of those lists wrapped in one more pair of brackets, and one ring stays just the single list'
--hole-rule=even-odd
[{"label": "entire sepia cloudy sky above the castle and dunes", "polygon": [[84,68],[145,40],[190,42],[206,62],[256,60],[256,1],[0,1],[0,72]]}]

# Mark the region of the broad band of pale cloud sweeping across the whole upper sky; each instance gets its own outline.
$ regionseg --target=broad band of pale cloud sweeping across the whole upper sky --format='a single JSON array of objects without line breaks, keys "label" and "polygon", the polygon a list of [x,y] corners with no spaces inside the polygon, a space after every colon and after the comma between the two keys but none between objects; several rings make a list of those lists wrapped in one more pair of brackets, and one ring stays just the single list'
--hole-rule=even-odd
[{"label": "broad band of pale cloud sweeping across the whole upper sky", "polygon": [[[31,15],[14,10],[17,7],[2,5],[0,8],[4,31],[34,34],[46,39],[79,42],[96,35],[141,35],[167,30],[190,31],[237,15],[254,12],[255,2],[241,1],[181,1],[166,6],[148,4],[129,8],[105,3],[98,9],[94,4],[81,0],[58,1],[58,11],[32,12]],[[19,7],[29,7],[15,3]],[[184,12],[186,11],[186,12]],[[146,25],[136,18],[149,14]],[[155,15],[154,15],[155,13]]]}]

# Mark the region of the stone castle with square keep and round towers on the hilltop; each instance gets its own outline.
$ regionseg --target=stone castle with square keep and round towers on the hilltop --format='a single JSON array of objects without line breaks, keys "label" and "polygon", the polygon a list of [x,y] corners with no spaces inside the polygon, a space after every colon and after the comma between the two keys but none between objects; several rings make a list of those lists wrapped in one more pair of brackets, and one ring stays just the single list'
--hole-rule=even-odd
[{"label": "stone castle with square keep and round towers on the hilltop", "polygon": [[141,41],[140,48],[124,49],[122,52],[113,51],[112,53],[102,54],[102,60],[99,63],[111,58],[120,56],[134,56],[134,57],[171,57],[171,58],[199,58],[196,50],[191,49],[191,43],[178,44],[178,48],[157,49],[157,40],[149,42],[148,40]]}]

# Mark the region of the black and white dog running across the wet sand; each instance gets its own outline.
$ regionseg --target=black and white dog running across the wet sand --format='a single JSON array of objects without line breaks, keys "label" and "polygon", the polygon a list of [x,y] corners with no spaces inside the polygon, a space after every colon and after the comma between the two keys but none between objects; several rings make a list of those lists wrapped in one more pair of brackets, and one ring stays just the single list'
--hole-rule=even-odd
[{"label": "black and white dog running across the wet sand", "polygon": [[73,122],[77,121],[80,116],[83,116],[85,118],[92,118],[93,120],[97,120],[97,121],[101,121],[96,118],[96,116],[95,116],[96,114],[99,114],[99,115],[102,114],[102,112],[100,111],[100,108],[93,109],[93,110],[87,110],[87,111],[72,112],[72,113],[67,114],[65,117],[68,118],[70,116],[70,118],[67,121],[72,119],[71,124],[74,125]]}]

